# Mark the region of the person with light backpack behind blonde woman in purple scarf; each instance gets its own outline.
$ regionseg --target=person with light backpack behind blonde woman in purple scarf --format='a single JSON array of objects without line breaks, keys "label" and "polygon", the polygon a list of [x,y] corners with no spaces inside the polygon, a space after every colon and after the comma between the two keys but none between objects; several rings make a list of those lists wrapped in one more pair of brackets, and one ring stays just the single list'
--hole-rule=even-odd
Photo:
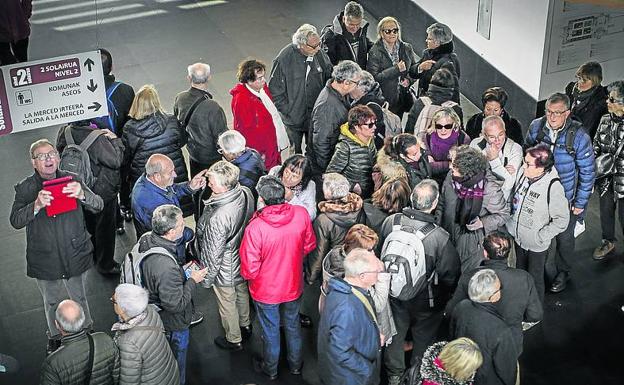
[{"label": "person with light backpack behind blonde woman in purple scarf", "polygon": [[453,76],[446,68],[440,68],[433,74],[429,89],[414,101],[407,115],[405,132],[414,134],[424,141],[427,129],[431,126],[433,114],[442,107],[451,107],[459,116],[461,124],[464,113],[459,104],[453,101],[453,87],[455,87]]}]

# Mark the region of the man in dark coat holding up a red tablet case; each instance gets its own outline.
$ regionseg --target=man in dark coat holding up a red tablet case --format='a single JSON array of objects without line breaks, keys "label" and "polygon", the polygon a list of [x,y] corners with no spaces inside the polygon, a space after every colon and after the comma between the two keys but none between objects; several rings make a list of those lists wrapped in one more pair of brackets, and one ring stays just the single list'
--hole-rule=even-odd
[{"label": "man in dark coat holding up a red tablet case", "polygon": [[30,158],[35,172],[15,185],[10,221],[16,229],[26,227],[26,274],[37,280],[43,297],[48,324],[47,351],[51,353],[61,343],[54,312],[62,300],[71,298],[78,302],[85,312],[84,328],[93,325],[85,293],[87,270],[93,264],[93,245],[83,209],[97,213],[104,202],[87,186],[73,181],[63,188],[62,194],[75,198],[77,209],[48,215],[54,198],[43,189],[43,182],[70,174],[58,170],[59,154],[47,139],[30,146]]}]

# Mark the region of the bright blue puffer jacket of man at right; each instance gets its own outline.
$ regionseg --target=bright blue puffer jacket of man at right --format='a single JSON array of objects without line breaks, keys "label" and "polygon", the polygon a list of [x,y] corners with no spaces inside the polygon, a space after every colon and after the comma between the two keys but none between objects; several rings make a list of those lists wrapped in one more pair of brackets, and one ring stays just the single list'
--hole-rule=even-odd
[{"label": "bright blue puffer jacket of man at right", "polygon": [[[543,130],[545,135],[542,143],[548,144],[552,149],[553,143],[545,122],[546,118],[544,117],[531,122],[525,139],[526,147],[538,144],[537,133],[539,130]],[[576,126],[576,136],[574,138],[576,156],[570,155],[565,146],[566,135],[571,126]],[[557,173],[559,173],[566,198],[568,198],[572,206],[585,209],[594,187],[596,172],[591,138],[583,128],[583,125],[568,119],[557,135],[553,153],[555,156],[555,168]]]}]

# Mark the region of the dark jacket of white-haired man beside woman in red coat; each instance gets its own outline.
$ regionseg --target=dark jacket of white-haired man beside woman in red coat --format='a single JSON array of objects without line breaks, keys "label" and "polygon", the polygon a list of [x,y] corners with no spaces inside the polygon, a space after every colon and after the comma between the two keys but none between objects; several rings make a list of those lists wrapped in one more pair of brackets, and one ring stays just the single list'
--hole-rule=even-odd
[{"label": "dark jacket of white-haired man beside woman in red coat", "polygon": [[273,60],[269,91],[273,103],[282,115],[284,124],[289,127],[301,127],[310,119],[312,107],[325,82],[331,77],[332,65],[327,54],[320,50],[310,62],[307,57],[292,44],[282,48]]}]

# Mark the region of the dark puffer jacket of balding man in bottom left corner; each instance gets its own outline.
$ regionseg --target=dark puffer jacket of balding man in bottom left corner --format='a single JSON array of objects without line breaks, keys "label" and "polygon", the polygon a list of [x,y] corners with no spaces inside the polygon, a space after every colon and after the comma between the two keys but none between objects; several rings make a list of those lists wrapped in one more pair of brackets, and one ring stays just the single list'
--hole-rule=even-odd
[{"label": "dark puffer jacket of balding man in bottom left corner", "polygon": [[[119,351],[104,333],[93,333],[95,351],[91,385],[114,385],[119,381]],[[89,339],[82,331],[63,337],[61,347],[46,357],[41,367],[41,385],[84,384],[89,362]]]}]

